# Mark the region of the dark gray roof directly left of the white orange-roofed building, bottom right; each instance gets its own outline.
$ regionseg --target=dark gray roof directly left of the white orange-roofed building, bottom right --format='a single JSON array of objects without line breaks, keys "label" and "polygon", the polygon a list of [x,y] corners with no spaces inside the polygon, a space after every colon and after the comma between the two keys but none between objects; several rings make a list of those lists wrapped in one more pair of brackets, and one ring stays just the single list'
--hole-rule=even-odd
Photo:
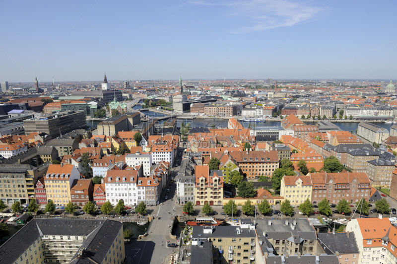
[{"label": "dark gray roof directly left of the white orange-roofed building, bottom right", "polygon": [[339,254],[360,253],[353,232],[349,233],[349,236],[347,236],[347,233],[318,233],[317,236],[321,246],[323,248],[326,247],[333,254],[336,251]]}]

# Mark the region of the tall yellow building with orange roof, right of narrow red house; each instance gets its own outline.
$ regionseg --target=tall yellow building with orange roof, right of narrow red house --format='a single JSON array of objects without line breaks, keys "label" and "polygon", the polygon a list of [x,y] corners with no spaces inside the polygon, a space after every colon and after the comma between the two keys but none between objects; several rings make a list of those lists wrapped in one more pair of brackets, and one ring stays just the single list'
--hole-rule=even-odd
[{"label": "tall yellow building with orange roof, right of narrow red house", "polygon": [[65,206],[71,201],[70,190],[74,180],[79,179],[80,172],[71,164],[49,165],[44,179],[47,201],[53,200],[56,205]]}]

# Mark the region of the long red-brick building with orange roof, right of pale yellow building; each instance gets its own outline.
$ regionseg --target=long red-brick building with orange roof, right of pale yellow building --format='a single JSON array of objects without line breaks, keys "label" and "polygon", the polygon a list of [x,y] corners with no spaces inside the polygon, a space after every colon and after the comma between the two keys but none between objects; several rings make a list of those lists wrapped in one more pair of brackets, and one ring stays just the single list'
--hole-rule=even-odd
[{"label": "long red-brick building with orange roof, right of pale yellow building", "polygon": [[324,198],[334,204],[341,199],[354,203],[361,198],[370,198],[371,181],[366,173],[313,173],[310,177],[313,184],[313,204]]}]

